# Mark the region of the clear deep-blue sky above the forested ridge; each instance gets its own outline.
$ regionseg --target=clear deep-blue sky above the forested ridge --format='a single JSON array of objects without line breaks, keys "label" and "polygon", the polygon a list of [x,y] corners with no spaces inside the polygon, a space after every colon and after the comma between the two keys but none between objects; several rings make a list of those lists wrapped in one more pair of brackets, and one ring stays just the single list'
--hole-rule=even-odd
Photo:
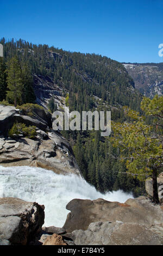
[{"label": "clear deep-blue sky above the forested ridge", "polygon": [[0,10],[1,38],[119,62],[163,62],[163,0],[0,0]]}]

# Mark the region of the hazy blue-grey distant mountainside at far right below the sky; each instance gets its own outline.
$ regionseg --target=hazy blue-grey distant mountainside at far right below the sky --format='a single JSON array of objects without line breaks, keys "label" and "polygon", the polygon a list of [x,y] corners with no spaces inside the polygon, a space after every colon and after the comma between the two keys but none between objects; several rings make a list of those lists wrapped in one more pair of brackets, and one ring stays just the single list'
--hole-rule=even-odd
[{"label": "hazy blue-grey distant mountainside at far right below the sky", "polygon": [[163,63],[123,64],[135,82],[135,88],[148,97],[163,94]]}]

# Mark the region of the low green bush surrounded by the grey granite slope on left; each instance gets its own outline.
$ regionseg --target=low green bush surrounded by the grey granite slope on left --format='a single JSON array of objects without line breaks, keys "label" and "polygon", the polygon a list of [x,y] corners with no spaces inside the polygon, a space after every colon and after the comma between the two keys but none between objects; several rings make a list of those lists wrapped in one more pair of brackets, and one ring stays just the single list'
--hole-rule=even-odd
[{"label": "low green bush surrounded by the grey granite slope on left", "polygon": [[9,137],[14,137],[14,135],[24,135],[27,138],[34,139],[36,136],[36,126],[26,126],[23,123],[15,123],[11,130],[9,130]]}]

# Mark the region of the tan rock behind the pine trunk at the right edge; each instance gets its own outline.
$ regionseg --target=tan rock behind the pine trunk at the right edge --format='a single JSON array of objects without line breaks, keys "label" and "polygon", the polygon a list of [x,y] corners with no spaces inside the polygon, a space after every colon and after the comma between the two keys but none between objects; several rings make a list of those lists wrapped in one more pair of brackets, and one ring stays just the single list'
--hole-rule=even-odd
[{"label": "tan rock behind the pine trunk at the right edge", "polygon": [[[163,203],[163,173],[160,173],[158,178],[158,194],[159,194],[159,201]],[[146,180],[146,192],[149,198],[153,198],[153,182],[151,178]]]}]

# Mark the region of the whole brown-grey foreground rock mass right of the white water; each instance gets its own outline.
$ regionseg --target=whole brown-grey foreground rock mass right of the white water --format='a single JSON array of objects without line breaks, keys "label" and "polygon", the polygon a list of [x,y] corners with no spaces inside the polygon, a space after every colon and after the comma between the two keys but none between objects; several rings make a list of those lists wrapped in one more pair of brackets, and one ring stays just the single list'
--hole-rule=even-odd
[{"label": "whole brown-grey foreground rock mass right of the white water", "polygon": [[124,204],[104,199],[73,199],[64,224],[74,245],[162,245],[163,208],[147,197]]}]

